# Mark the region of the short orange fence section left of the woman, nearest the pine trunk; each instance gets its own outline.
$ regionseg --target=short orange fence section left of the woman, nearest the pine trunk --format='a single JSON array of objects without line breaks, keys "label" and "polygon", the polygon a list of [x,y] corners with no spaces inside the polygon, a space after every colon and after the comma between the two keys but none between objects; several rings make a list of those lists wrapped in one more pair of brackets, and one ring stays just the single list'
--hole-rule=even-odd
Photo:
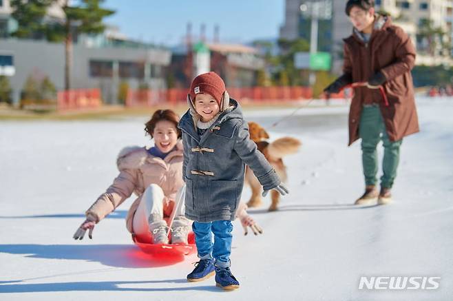
[{"label": "short orange fence section left of the woman, nearest the pine trunk", "polygon": [[101,107],[101,90],[78,89],[59,91],[56,110],[95,109]]}]

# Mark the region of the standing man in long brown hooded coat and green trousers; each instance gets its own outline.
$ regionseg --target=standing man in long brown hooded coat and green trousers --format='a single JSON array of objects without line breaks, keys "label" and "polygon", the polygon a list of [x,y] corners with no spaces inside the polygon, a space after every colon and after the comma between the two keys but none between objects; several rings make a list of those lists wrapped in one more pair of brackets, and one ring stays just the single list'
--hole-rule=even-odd
[{"label": "standing man in long brown hooded coat and green trousers", "polygon": [[[410,74],[415,61],[414,45],[408,34],[392,25],[390,17],[376,14],[374,6],[373,0],[346,3],[346,14],[354,29],[344,39],[344,74],[324,90],[328,97],[351,83],[367,83],[355,88],[349,112],[349,145],[361,138],[366,184],[356,205],[391,202],[402,139],[419,132]],[[383,175],[378,192],[376,148],[381,140]]]}]

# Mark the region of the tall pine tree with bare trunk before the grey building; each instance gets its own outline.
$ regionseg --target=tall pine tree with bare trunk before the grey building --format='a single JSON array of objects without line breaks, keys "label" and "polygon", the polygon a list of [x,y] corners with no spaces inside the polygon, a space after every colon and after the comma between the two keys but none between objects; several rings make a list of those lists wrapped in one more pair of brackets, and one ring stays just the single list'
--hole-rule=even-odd
[{"label": "tall pine tree with bare trunk before the grey building", "polygon": [[33,38],[43,35],[48,41],[65,43],[65,90],[70,89],[70,69],[72,65],[72,41],[74,34],[100,34],[105,30],[103,19],[114,10],[101,8],[103,0],[65,0],[62,10],[63,22],[44,20],[45,12],[57,0],[12,0],[13,17],[18,28],[13,33],[19,38]]}]

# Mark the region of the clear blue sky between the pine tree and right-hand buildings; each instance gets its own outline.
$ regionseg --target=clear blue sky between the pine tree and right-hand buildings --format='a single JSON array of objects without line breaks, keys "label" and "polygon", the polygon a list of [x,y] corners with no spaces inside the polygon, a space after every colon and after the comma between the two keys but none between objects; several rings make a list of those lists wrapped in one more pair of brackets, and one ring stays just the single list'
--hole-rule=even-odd
[{"label": "clear blue sky between the pine tree and right-hand buildings", "polygon": [[116,10],[106,23],[130,38],[164,45],[179,43],[189,21],[196,36],[206,24],[208,41],[218,24],[221,42],[249,42],[278,37],[284,20],[284,0],[106,0],[104,6]]}]

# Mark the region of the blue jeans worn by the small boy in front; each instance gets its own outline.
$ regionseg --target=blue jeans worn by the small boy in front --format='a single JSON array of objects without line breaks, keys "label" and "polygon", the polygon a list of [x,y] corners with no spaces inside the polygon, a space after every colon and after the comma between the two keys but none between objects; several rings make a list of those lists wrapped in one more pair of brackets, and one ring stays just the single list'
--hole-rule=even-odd
[{"label": "blue jeans worn by the small boy in front", "polygon": [[[216,267],[229,267],[233,224],[231,220],[214,222],[193,222],[193,233],[198,249],[198,258],[215,259]],[[212,242],[214,234],[214,243]]]}]

